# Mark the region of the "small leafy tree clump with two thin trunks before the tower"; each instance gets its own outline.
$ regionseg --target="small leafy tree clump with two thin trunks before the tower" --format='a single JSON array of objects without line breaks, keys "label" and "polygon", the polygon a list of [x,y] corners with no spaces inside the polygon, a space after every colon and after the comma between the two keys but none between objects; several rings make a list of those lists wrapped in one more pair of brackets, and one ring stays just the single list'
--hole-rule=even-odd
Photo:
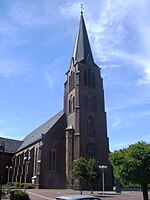
[{"label": "small leafy tree clump with two thin trunks before the tower", "polygon": [[99,175],[98,162],[95,159],[85,159],[80,157],[73,162],[72,177],[80,183],[80,192],[82,194],[82,186],[87,183],[93,193],[93,186]]}]

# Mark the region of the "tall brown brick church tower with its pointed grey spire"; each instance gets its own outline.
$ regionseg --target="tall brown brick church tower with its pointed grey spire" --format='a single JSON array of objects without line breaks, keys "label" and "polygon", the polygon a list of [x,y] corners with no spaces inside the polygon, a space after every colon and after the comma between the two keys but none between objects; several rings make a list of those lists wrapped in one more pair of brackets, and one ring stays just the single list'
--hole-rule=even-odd
[{"label": "tall brown brick church tower with its pointed grey spire", "polygon": [[[79,157],[95,158],[107,165],[105,187],[112,187],[112,169],[108,162],[109,141],[104,102],[103,79],[95,64],[81,12],[70,68],[64,84],[66,113],[66,177],[73,187],[70,171]],[[98,181],[101,184],[101,177]],[[99,189],[102,186],[99,187]]]}]

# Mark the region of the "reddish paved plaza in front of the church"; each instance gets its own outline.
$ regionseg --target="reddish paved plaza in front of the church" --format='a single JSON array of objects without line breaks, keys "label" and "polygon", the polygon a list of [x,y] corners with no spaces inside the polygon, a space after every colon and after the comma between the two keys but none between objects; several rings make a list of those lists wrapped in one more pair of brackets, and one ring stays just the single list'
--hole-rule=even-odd
[{"label": "reddish paved plaza in front of the church", "polygon": [[[30,189],[27,190],[31,200],[54,200],[57,196],[80,194],[80,191],[73,191],[69,189]],[[90,195],[90,192],[83,191],[83,195]],[[100,197],[102,200],[143,200],[142,192],[140,191],[123,191],[121,193],[93,192],[93,195]],[[150,196],[150,193],[149,193]]]}]

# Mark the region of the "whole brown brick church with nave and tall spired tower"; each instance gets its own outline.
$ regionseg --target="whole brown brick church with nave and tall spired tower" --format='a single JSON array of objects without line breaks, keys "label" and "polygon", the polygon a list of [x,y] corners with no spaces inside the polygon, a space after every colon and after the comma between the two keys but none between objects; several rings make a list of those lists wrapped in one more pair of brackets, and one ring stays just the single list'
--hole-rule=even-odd
[{"label": "whole brown brick church with nave and tall spired tower", "polygon": [[[39,188],[75,188],[72,163],[84,157],[107,165],[105,189],[112,189],[103,79],[94,62],[83,12],[68,68],[64,107],[24,138],[12,159],[12,180],[32,182]],[[101,171],[97,189],[102,189]]]}]

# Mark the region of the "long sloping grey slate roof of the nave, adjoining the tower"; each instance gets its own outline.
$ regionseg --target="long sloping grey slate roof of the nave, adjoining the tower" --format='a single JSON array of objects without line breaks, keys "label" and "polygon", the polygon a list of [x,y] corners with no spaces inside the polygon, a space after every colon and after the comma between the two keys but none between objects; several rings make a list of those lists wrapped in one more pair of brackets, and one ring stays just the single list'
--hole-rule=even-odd
[{"label": "long sloping grey slate roof of the nave, adjoining the tower", "polygon": [[41,140],[42,139],[42,135],[46,134],[53,127],[53,125],[63,116],[63,114],[64,114],[64,112],[60,111],[55,116],[53,116],[48,121],[46,121],[44,124],[42,124],[37,129],[32,131],[29,135],[27,135],[23,139],[23,143],[18,148],[17,151],[20,151],[20,150],[30,146],[31,144]]}]

